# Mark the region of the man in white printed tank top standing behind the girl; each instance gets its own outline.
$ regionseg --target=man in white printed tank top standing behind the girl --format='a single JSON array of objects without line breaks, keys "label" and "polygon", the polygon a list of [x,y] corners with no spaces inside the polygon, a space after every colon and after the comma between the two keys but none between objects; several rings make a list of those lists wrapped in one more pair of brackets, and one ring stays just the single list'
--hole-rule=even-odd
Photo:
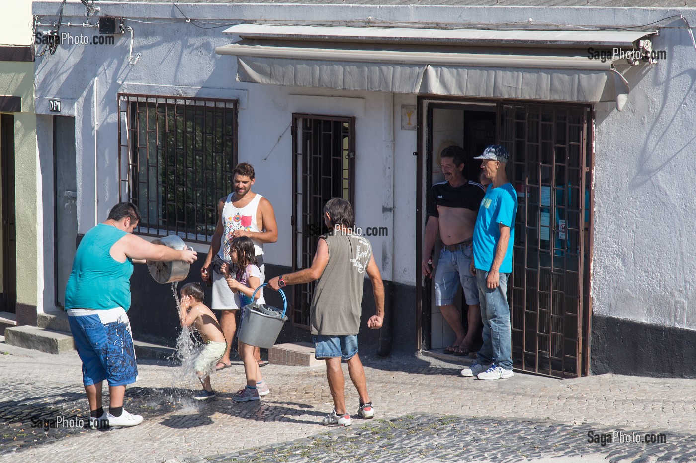
[{"label": "man in white printed tank top standing behind the girl", "polygon": [[[235,190],[220,198],[218,203],[220,220],[217,222],[215,233],[210,241],[210,250],[200,270],[200,276],[204,282],[212,281],[213,297],[210,307],[222,311],[220,326],[227,340],[227,350],[218,362],[217,370],[230,366],[230,346],[237,330],[235,314],[239,309],[239,298],[230,291],[225,278],[219,273],[223,262],[231,263],[230,243],[239,236],[251,238],[256,250],[258,267],[261,270],[261,284],[263,284],[266,270],[263,263],[263,245],[278,241],[278,226],[273,206],[262,195],[251,191],[251,186],[254,184],[254,168],[251,164],[239,163],[232,174]],[[260,304],[264,304],[262,291],[261,289],[261,295],[257,301]],[[260,359],[258,348],[255,350],[255,357]]]}]

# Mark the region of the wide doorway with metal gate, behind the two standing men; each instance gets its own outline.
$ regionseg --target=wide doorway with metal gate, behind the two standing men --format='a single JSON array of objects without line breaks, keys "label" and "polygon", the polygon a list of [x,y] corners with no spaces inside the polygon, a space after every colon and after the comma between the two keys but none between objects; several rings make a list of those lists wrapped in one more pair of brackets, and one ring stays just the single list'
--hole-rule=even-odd
[{"label": "wide doorway with metal gate, behind the two standing men", "polygon": [[[580,104],[418,99],[420,208],[417,262],[425,204],[443,179],[441,150],[464,147],[471,158],[496,143],[510,153],[507,177],[517,192],[513,270],[507,286],[512,360],[518,371],[553,377],[587,375],[590,363],[592,267],[592,108]],[[434,257],[441,243],[436,243]],[[436,262],[435,262],[436,263]],[[454,332],[434,304],[434,283],[418,274],[418,346],[442,352]],[[466,307],[459,295],[457,306]],[[464,311],[466,314],[466,309]],[[466,317],[462,320],[466,326]]]}]

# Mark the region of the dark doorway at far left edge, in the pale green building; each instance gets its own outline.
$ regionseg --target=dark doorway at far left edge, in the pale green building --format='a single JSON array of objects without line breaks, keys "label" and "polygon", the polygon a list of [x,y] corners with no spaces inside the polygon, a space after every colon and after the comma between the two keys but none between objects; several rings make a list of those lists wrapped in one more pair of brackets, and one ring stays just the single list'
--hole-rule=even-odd
[{"label": "dark doorway at far left edge, in the pale green building", "polygon": [[0,115],[0,311],[15,313],[17,305],[17,230],[15,227],[15,117]]}]

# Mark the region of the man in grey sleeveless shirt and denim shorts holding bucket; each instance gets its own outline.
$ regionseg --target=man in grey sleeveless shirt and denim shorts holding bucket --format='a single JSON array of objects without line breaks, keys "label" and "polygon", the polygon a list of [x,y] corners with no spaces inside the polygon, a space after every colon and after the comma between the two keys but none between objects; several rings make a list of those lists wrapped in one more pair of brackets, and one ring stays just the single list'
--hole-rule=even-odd
[{"label": "man in grey sleeveless shirt and denim shorts holding bucket", "polygon": [[358,332],[363,313],[365,272],[372,282],[377,313],[367,320],[367,327],[379,328],[384,316],[384,286],[370,241],[353,233],[354,216],[351,204],[338,197],[324,206],[324,223],[331,230],[319,238],[312,266],[271,279],[276,291],[287,284],[319,280],[310,307],[315,357],[326,360],[326,377],[333,396],[333,412],[324,418],[324,425],[349,426],[343,387],[345,380],[341,360],[348,364],[351,380],[360,395],[358,416],[374,417],[372,400],[367,394],[365,370],[358,356]]}]

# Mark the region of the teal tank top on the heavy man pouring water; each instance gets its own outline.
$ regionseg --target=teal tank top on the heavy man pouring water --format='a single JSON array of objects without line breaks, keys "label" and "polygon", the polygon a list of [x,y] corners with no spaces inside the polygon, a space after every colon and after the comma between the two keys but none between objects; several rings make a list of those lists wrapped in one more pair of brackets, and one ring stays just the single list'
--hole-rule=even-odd
[{"label": "teal tank top on the heavy man pouring water", "polygon": [[111,246],[126,232],[100,223],[85,234],[75,252],[72,272],[65,287],[65,309],[130,308],[133,261],[118,262]]}]

